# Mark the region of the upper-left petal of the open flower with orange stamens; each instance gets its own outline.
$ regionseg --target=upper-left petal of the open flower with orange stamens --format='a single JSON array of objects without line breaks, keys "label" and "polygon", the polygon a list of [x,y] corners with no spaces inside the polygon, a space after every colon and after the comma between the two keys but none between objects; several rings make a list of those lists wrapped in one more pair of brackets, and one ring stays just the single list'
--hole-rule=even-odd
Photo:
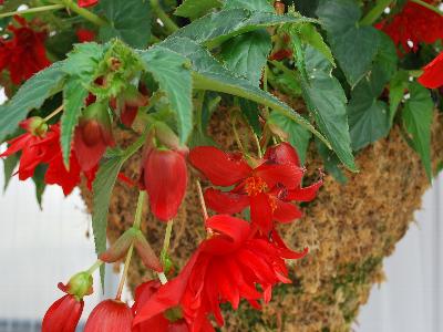
[{"label": "upper-left petal of the open flower with orange stamens", "polygon": [[243,159],[235,158],[213,146],[198,146],[189,153],[189,160],[214,185],[228,187],[248,177],[251,168]]}]

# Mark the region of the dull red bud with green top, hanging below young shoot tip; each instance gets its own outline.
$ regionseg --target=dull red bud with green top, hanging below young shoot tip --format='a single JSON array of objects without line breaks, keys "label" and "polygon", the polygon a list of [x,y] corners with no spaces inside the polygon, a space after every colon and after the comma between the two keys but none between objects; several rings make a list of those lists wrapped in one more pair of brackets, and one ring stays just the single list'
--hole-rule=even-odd
[{"label": "dull red bud with green top, hanging below young shoot tip", "polygon": [[74,134],[74,151],[83,170],[90,170],[102,158],[107,146],[114,145],[107,106],[93,103],[83,112]]}]

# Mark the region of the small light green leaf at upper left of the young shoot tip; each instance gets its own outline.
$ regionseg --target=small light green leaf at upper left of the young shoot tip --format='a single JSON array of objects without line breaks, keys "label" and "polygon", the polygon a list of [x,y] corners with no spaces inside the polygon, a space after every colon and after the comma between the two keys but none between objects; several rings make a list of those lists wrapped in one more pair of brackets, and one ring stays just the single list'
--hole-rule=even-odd
[{"label": "small light green leaf at upper left of the young shoot tip", "polygon": [[63,71],[71,76],[78,76],[84,84],[95,80],[99,64],[103,60],[105,48],[97,43],[75,44],[63,62]]}]

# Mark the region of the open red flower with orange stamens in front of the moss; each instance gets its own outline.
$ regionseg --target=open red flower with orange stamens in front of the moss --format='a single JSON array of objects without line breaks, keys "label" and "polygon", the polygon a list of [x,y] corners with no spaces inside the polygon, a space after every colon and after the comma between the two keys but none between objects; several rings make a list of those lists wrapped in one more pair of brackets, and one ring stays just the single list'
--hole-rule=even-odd
[{"label": "open red flower with orange stamens in front of the moss", "polygon": [[300,218],[301,211],[290,201],[310,200],[301,195],[308,191],[313,198],[321,186],[318,183],[301,189],[305,169],[289,144],[269,148],[265,159],[258,160],[254,167],[241,156],[212,146],[194,148],[189,160],[214,185],[234,186],[228,191],[207,189],[205,199],[209,208],[219,214],[236,214],[249,206],[253,224],[265,234],[274,228],[272,220],[291,222]]}]

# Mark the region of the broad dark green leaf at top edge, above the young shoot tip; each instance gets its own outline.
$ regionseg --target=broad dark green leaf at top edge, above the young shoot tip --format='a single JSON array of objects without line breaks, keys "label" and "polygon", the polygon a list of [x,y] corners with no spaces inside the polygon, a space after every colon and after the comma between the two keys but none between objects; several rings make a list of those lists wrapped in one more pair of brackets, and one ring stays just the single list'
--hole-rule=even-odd
[{"label": "broad dark green leaf at top edge, above the young shoot tip", "polygon": [[146,48],[151,38],[151,2],[148,0],[101,0],[97,10],[110,24],[100,28],[104,42],[119,38],[130,46]]}]

